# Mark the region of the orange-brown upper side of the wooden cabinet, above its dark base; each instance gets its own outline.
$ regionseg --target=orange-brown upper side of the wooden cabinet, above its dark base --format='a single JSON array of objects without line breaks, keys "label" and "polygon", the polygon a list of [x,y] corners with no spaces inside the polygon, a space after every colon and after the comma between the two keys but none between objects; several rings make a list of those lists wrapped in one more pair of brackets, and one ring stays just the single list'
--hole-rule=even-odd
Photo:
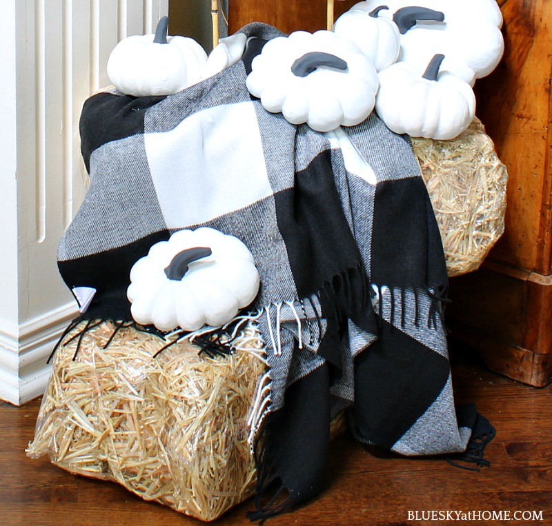
[{"label": "orange-brown upper side of the wooden cabinet, above its dark base", "polygon": [[552,3],[500,0],[505,52],[475,85],[477,114],[509,171],[504,236],[491,259],[551,274]]}]

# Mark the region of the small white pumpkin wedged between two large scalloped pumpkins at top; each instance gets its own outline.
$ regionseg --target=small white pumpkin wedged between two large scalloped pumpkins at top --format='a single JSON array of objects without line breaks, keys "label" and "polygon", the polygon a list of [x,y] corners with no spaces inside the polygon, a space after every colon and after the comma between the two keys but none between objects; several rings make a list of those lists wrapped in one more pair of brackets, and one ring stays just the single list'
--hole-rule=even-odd
[{"label": "small white pumpkin wedged between two large scalloped pumpkins at top", "polygon": [[380,11],[387,6],[366,12],[354,9],[344,12],[333,26],[339,37],[351,39],[370,59],[377,71],[393,64],[399,57],[400,34],[397,24],[386,17],[380,17]]}]

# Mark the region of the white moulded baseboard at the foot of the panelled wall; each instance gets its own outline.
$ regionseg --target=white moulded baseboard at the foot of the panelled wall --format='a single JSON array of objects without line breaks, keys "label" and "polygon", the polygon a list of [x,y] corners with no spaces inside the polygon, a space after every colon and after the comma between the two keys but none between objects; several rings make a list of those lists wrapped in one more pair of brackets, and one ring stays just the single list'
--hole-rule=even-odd
[{"label": "white moulded baseboard at the foot of the panelled wall", "polygon": [[0,399],[22,405],[43,394],[51,365],[46,361],[72,318],[74,302],[21,325],[0,320]]}]

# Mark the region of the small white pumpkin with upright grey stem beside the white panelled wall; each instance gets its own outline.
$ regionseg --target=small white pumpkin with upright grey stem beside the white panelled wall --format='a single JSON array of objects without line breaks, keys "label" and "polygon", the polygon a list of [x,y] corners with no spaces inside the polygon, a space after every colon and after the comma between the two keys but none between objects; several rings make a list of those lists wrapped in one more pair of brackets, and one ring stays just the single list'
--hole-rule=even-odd
[{"label": "small white pumpkin with upright grey stem beside the white panelled wall", "polygon": [[201,80],[207,54],[188,37],[168,37],[168,17],[154,34],[133,35],[112,50],[107,65],[110,81],[135,97],[172,95]]}]

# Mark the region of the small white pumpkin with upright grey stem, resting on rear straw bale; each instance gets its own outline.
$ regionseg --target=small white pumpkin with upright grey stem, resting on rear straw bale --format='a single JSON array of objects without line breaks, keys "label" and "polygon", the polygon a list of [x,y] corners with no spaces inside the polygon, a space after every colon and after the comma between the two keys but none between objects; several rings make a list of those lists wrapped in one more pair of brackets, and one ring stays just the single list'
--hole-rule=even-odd
[{"label": "small white pumpkin with upright grey stem, resting on rear straw bale", "polygon": [[444,56],[431,59],[423,75],[396,62],[380,72],[375,110],[395,133],[426,139],[453,139],[475,115],[471,86],[449,72],[439,72]]}]

